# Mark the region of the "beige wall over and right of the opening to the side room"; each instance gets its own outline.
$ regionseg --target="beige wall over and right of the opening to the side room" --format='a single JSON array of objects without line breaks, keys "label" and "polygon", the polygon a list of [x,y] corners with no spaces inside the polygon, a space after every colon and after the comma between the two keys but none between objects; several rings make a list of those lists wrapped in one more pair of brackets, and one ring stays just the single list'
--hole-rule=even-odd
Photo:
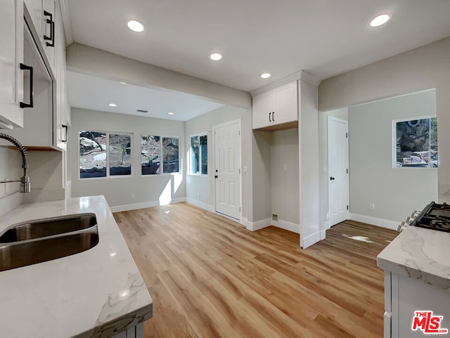
[{"label": "beige wall over and right of the opening to the side room", "polygon": [[439,202],[450,202],[450,38],[326,79],[319,109],[349,107],[436,89]]}]

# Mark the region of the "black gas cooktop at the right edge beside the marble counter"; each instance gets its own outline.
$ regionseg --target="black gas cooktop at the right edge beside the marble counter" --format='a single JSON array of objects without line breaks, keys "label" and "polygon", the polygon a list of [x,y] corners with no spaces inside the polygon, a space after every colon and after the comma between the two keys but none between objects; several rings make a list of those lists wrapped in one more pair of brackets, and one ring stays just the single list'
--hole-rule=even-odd
[{"label": "black gas cooktop at the right edge beside the marble counter", "polygon": [[450,233],[450,205],[431,202],[420,212],[411,226]]}]

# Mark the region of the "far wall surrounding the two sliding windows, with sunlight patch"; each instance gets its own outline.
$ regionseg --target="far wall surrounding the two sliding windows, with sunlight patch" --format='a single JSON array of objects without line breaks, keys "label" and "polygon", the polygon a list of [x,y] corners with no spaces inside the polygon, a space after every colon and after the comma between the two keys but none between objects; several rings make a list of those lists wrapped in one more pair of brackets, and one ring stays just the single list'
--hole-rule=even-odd
[{"label": "far wall surrounding the two sliding windows, with sunlight patch", "polygon": [[[105,195],[108,204],[114,210],[158,205],[160,198],[164,201],[167,198],[172,201],[184,201],[186,188],[183,174],[141,175],[141,135],[179,136],[180,169],[186,170],[184,122],[77,108],[72,108],[71,120],[68,162],[72,166],[79,166],[80,130],[133,134],[132,176],[79,179],[79,170],[72,170],[72,197]],[[131,194],[134,194],[134,198]]]}]

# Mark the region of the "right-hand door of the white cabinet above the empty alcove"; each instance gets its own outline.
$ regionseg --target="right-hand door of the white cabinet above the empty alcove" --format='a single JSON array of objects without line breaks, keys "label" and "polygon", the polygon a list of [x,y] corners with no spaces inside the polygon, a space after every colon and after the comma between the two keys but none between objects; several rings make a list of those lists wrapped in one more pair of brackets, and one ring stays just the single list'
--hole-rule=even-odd
[{"label": "right-hand door of the white cabinet above the empty alcove", "polygon": [[272,124],[297,121],[297,82],[291,82],[273,91]]}]

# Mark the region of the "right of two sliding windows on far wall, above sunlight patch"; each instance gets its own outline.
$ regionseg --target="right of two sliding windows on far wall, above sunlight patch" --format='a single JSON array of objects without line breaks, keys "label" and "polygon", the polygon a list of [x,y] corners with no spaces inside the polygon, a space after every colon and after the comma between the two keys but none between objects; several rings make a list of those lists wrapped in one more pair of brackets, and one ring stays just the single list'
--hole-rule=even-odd
[{"label": "right of two sliding windows on far wall, above sunlight patch", "polygon": [[143,175],[179,173],[179,137],[142,135],[141,170]]}]

